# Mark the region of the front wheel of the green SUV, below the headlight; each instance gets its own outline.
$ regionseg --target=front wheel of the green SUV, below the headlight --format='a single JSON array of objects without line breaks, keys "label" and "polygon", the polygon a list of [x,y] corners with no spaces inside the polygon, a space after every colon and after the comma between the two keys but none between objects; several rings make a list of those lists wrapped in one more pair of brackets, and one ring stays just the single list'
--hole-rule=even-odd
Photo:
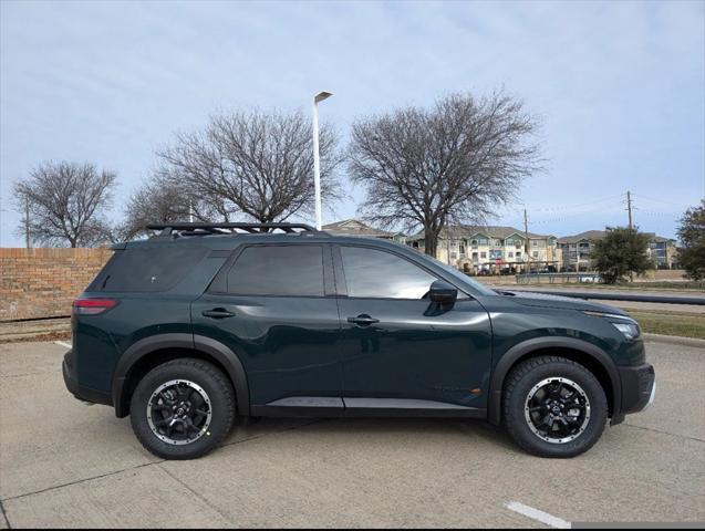
[{"label": "front wheel of the green SUV, below the headlight", "polygon": [[604,389],[584,366],[540,356],[517,365],[504,389],[511,438],[541,457],[573,457],[594,445],[608,418]]}]

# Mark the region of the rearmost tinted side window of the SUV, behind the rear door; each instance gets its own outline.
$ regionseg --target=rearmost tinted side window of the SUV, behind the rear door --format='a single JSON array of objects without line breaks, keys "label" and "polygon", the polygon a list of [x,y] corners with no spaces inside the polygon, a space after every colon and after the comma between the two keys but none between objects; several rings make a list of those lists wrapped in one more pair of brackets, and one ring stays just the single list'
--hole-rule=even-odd
[{"label": "rearmost tinted side window of the SUV, behind the rear door", "polygon": [[204,247],[148,247],[116,251],[91,291],[158,292],[174,288],[204,257]]}]

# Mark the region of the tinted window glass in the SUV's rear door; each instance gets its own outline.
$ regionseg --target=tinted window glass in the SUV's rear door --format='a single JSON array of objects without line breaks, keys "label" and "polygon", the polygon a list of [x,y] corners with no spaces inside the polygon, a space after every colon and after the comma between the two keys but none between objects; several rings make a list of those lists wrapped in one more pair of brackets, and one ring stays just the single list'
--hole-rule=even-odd
[{"label": "tinted window glass in the SUV's rear door", "polygon": [[323,296],[323,249],[248,247],[228,272],[228,293]]}]

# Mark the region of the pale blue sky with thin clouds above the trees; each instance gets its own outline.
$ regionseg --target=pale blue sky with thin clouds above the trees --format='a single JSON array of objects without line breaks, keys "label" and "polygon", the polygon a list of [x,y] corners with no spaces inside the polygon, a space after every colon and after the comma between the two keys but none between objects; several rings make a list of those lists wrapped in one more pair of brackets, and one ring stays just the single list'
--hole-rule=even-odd
[{"label": "pale blue sky with thin clouds above the trees", "polygon": [[[502,87],[541,121],[546,170],[488,223],[674,237],[705,196],[705,2],[0,0],[0,247],[12,186],[44,160],[118,175],[111,219],[177,132],[235,108],[363,116]],[[348,199],[323,222],[351,218]],[[331,208],[334,210],[331,211]],[[313,221],[313,219],[307,219]]]}]

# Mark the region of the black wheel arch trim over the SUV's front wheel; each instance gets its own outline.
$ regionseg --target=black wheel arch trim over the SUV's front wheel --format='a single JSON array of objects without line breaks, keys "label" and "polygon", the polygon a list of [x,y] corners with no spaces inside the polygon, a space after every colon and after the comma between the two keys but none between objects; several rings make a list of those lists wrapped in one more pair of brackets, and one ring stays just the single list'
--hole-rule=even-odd
[{"label": "black wheel arch trim over the SUV's front wheel", "polygon": [[578,362],[592,372],[604,388],[610,415],[619,416],[622,408],[622,386],[616,365],[602,348],[573,337],[537,337],[509,348],[497,362],[490,378],[487,418],[501,424],[501,399],[507,375],[517,364],[541,355],[558,355]]}]

